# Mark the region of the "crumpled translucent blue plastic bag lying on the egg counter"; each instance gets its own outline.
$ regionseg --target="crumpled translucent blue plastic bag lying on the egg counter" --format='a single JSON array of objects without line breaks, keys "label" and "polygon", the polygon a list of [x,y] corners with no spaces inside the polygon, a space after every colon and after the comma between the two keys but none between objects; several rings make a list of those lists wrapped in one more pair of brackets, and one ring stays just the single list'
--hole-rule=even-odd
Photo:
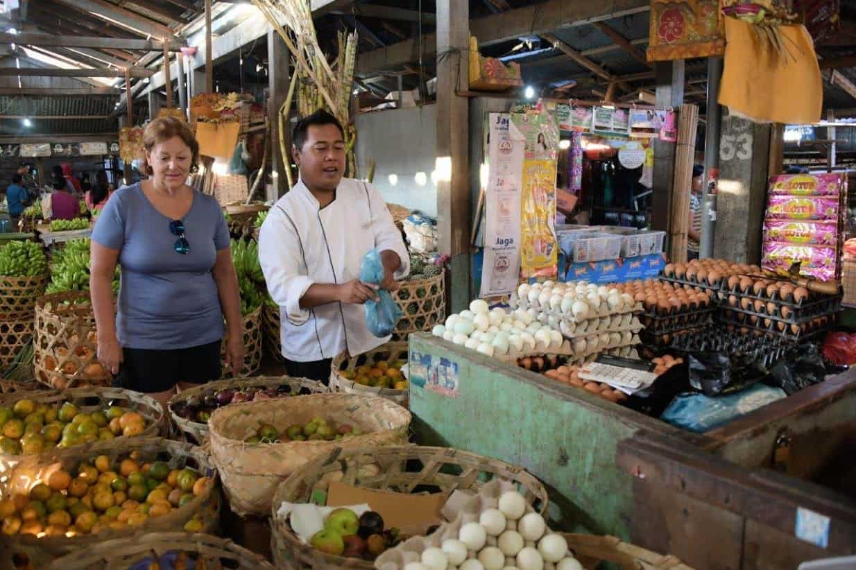
[{"label": "crumpled translucent blue plastic bag lying on the egg counter", "polygon": [[682,394],[675,397],[660,419],[685,430],[701,433],[784,397],[786,394],[781,388],[762,384],[755,384],[732,395],[710,397],[704,394]]}]

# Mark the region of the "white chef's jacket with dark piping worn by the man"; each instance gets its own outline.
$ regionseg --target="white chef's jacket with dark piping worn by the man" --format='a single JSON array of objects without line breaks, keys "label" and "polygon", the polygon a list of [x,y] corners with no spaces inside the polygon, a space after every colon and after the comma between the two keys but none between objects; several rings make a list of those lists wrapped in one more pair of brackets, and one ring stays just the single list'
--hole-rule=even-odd
[{"label": "white chef's jacket with dark piping worn by the man", "polygon": [[396,279],[407,276],[410,257],[380,193],[364,181],[342,178],[336,198],[320,208],[302,181],[276,202],[259,232],[259,262],[270,296],[280,309],[282,356],[295,362],[352,356],[389,341],[366,327],[362,305],[328,303],[301,309],[314,283],[344,283],[360,277],[372,248],[401,258]]}]

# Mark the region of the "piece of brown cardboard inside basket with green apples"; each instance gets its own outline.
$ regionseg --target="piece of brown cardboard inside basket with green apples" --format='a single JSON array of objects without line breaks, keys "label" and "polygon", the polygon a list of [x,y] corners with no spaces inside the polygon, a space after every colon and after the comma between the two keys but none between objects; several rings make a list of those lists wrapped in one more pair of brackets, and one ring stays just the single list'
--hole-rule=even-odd
[{"label": "piece of brown cardboard inside basket with green apples", "polygon": [[383,517],[385,528],[397,528],[402,534],[424,535],[431,525],[443,522],[440,514],[447,496],[444,493],[410,495],[354,487],[331,481],[327,491],[327,506],[342,507],[368,503]]}]

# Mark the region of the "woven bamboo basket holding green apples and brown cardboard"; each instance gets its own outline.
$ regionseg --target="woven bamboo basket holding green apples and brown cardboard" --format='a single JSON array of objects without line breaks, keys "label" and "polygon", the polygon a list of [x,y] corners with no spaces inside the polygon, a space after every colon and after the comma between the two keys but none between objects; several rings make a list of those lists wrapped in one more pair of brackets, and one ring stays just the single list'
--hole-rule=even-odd
[{"label": "woven bamboo basket holding green apples and brown cardboard", "polygon": [[276,567],[292,570],[374,568],[374,563],[324,554],[300,539],[287,520],[277,516],[282,502],[312,502],[316,490],[325,491],[331,480],[395,493],[424,492],[432,488],[445,496],[455,490],[476,493],[490,480],[517,486],[533,508],[547,509],[547,490],[522,467],[460,449],[416,445],[382,448],[335,448],[305,466],[276,489],[273,497],[271,551]]}]

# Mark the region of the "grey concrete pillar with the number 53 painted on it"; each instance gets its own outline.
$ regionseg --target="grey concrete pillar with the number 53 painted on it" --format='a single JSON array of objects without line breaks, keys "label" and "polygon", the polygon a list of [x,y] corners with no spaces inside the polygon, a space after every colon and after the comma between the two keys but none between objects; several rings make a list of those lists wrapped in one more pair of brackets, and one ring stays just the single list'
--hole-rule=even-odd
[{"label": "grey concrete pillar with the number 53 painted on it", "polygon": [[713,257],[760,261],[769,162],[770,125],[722,118]]}]

